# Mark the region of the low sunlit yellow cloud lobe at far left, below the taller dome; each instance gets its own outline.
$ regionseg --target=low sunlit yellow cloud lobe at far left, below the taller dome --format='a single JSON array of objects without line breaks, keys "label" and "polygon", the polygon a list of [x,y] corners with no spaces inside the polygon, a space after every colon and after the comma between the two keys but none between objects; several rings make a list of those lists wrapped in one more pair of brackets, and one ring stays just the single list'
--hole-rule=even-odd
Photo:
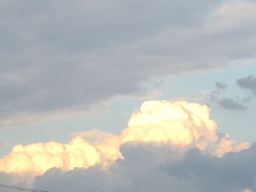
[{"label": "low sunlit yellow cloud lobe at far left, below the taller dome", "polygon": [[16,174],[42,174],[52,167],[71,170],[87,168],[99,162],[100,153],[83,139],[75,137],[68,144],[57,142],[16,145],[0,159],[0,171]]}]

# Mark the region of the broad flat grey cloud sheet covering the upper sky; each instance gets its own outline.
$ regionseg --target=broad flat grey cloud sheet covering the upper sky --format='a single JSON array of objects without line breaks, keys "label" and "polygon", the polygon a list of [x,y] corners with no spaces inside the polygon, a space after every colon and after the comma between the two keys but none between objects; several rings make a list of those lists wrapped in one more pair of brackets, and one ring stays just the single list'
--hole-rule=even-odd
[{"label": "broad flat grey cloud sheet covering the upper sky", "polygon": [[251,61],[256,28],[247,20],[254,21],[255,6],[1,1],[0,120],[89,110],[115,96],[143,95],[155,77]]}]

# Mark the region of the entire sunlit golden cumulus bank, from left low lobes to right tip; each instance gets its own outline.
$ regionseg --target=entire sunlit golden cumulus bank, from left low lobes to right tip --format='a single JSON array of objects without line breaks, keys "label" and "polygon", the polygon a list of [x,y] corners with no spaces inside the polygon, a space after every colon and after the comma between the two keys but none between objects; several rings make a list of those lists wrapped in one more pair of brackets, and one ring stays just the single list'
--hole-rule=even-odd
[{"label": "entire sunlit golden cumulus bank, from left low lobes to right tip", "polygon": [[99,165],[108,168],[123,158],[119,148],[129,142],[167,145],[183,150],[198,147],[203,153],[222,156],[249,147],[228,135],[216,133],[217,123],[205,105],[187,101],[145,101],[129,119],[120,135],[99,130],[74,134],[67,144],[59,142],[16,145],[0,158],[0,172],[43,174],[50,168],[69,171]]}]

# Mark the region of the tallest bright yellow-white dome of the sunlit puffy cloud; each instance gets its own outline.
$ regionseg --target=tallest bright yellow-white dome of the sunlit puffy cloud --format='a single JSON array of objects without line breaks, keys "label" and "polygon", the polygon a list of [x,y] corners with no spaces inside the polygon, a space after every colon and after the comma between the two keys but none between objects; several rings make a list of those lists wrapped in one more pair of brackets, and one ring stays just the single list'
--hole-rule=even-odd
[{"label": "tallest bright yellow-white dome of the sunlit puffy cloud", "polygon": [[206,141],[218,139],[216,128],[206,106],[187,101],[146,101],[122,131],[122,142],[170,142],[180,146],[197,143],[197,147],[205,148]]}]

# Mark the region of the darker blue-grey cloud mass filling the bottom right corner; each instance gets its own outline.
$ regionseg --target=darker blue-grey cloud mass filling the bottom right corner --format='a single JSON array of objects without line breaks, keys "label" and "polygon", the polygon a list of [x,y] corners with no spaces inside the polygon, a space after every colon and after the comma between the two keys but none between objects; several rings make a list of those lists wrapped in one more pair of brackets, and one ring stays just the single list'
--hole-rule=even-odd
[{"label": "darker blue-grey cloud mass filling the bottom right corner", "polygon": [[[195,179],[201,191],[255,191],[255,145],[238,153],[227,153],[222,158],[202,155],[190,150],[174,164],[167,164],[167,174]],[[208,190],[207,190],[208,189]]]}]

